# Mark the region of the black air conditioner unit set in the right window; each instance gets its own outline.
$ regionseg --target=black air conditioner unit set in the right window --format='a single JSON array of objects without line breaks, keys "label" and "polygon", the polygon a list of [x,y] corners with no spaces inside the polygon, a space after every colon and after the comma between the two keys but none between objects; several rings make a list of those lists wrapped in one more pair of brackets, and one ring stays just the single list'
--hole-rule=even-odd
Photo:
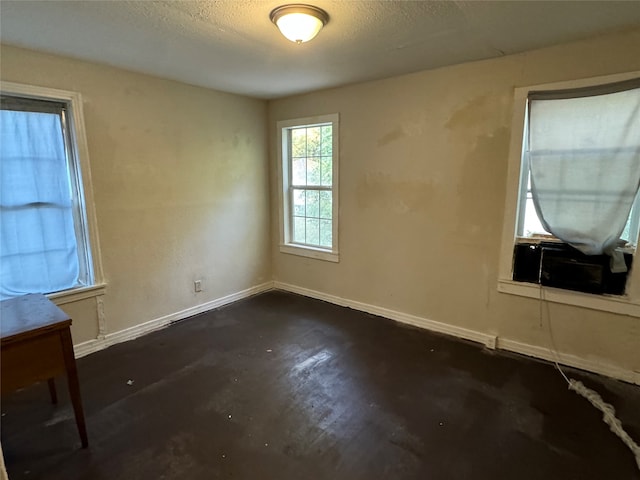
[{"label": "black air conditioner unit set in the right window", "polygon": [[[633,255],[624,254],[627,270]],[[513,255],[513,279],[579,292],[623,295],[627,273],[612,273],[608,255],[585,255],[555,242],[518,243]]]}]

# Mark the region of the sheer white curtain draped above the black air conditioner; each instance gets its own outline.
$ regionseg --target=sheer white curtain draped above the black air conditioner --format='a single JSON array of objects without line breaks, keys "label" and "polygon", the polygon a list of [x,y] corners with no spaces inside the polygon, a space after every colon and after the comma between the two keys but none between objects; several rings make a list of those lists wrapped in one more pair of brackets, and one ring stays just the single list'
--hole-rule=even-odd
[{"label": "sheer white curtain draped above the black air conditioner", "polygon": [[[614,255],[640,185],[640,88],[534,94],[527,153],[543,227],[587,255]],[[621,254],[614,257],[615,270],[625,271]]]}]

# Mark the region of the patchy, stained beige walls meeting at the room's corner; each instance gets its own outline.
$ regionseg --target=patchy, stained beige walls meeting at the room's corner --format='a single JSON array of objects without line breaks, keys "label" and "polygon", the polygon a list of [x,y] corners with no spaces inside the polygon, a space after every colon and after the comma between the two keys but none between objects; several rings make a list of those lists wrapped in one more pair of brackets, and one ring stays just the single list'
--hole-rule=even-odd
[{"label": "patchy, stained beige walls meeting at the room's corner", "polygon": [[[547,347],[538,302],[497,292],[513,89],[638,70],[638,45],[632,31],[272,101],[266,129],[259,100],[14,47],[0,74],[83,95],[108,333],[273,275]],[[278,252],[274,141],[277,120],[334,112],[338,264]],[[76,343],[96,337],[95,300],[65,308]],[[562,352],[640,371],[639,319],[549,313]]]}]

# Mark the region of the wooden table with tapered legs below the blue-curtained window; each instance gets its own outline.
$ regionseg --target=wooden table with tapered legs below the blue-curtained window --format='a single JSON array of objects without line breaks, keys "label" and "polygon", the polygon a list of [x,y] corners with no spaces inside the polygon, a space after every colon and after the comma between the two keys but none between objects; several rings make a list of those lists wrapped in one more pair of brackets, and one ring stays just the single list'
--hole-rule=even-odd
[{"label": "wooden table with tapered legs below the blue-curtained window", "polygon": [[53,378],[66,373],[82,447],[89,445],[80,384],[71,340],[71,319],[44,295],[3,300],[0,314],[0,389],[3,393],[47,380],[53,403]]}]

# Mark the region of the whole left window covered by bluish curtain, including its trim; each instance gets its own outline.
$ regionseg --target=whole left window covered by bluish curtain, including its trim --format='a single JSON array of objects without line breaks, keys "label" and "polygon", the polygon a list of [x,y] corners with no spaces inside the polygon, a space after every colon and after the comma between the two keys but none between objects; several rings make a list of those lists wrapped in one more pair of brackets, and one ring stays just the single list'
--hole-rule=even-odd
[{"label": "whole left window covered by bluish curtain, including its trim", "polygon": [[101,271],[80,96],[3,82],[0,100],[0,298],[90,289]]}]

